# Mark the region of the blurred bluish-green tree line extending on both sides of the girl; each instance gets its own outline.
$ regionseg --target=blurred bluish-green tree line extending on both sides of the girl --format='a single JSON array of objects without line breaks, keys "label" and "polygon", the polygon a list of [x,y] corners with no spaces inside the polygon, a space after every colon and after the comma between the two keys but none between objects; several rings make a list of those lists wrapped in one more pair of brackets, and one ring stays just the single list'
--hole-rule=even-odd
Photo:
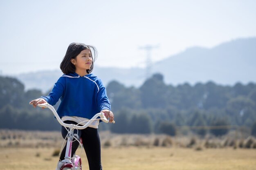
[{"label": "blurred bluish-green tree line extending on both sides of the girl", "polygon": [[[140,87],[126,87],[112,81],[107,86],[116,124],[101,123],[100,129],[115,133],[166,133],[176,135],[179,127],[206,135],[224,135],[229,128],[196,128],[206,126],[245,126],[254,133],[256,127],[256,84],[236,83],[223,86],[214,82],[173,86],[154,74]],[[32,108],[29,101],[43,94],[25,91],[15,78],[0,77],[0,128],[59,130],[49,110]],[[58,104],[57,104],[58,106]],[[55,106],[55,107],[57,107]],[[187,130],[183,130],[186,133]]]}]

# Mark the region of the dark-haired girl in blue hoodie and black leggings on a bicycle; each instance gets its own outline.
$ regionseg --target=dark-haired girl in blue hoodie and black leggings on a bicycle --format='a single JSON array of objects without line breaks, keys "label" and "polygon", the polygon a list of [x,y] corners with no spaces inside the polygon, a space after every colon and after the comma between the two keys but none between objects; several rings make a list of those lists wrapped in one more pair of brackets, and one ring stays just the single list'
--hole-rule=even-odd
[{"label": "dark-haired girl in blue hoodie and black leggings on a bicycle", "polygon": [[[33,104],[34,107],[46,102],[55,105],[58,99],[61,99],[57,113],[67,124],[78,124],[81,121],[91,119],[99,112],[105,113],[109,122],[112,123],[114,115],[110,111],[106,89],[101,79],[91,74],[96,57],[97,50],[93,46],[81,43],[70,44],[60,66],[64,75],[54,84],[48,96],[32,100],[30,104]],[[90,170],[102,169],[98,125],[99,120],[96,120],[88,128],[78,131],[79,137],[83,140]],[[65,139],[67,130],[62,127],[61,131]],[[79,142],[74,141],[72,155],[78,146]],[[61,152],[56,170],[60,170],[64,165],[61,160],[65,157],[65,148],[66,146]]]}]

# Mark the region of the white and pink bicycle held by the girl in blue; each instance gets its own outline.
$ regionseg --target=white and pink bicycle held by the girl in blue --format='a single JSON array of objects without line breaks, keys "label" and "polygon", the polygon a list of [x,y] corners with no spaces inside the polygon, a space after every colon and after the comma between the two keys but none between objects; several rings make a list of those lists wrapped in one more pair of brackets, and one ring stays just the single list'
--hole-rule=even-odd
[{"label": "white and pink bicycle held by the girl in blue", "polygon": [[[72,141],[73,139],[75,139],[76,141],[79,142],[81,148],[83,148],[83,145],[81,144],[81,142],[77,139],[77,137],[75,137],[77,134],[74,134],[74,130],[78,130],[78,129],[85,129],[87,128],[92,121],[94,120],[102,120],[106,123],[108,123],[108,119],[105,117],[104,113],[97,113],[96,115],[94,115],[92,117],[92,119],[86,120],[88,121],[85,125],[83,126],[79,126],[79,124],[85,122],[82,121],[79,124],[65,124],[61,118],[58,116],[58,113],[56,112],[56,110],[54,109],[54,107],[48,103],[44,103],[44,104],[38,104],[39,107],[42,108],[49,108],[52,113],[54,114],[54,116],[56,117],[56,119],[58,120],[58,122],[65,127],[65,129],[68,131],[67,133],[67,148],[65,151],[65,159],[63,160],[64,165],[60,168],[60,170],[82,170],[82,161],[81,158],[78,155],[73,155],[73,157],[71,157],[71,148],[72,148]],[[100,118],[97,118],[100,117]],[[113,123],[115,123],[115,121],[113,121]],[[69,128],[69,130],[67,129]],[[78,136],[78,135],[77,135]],[[65,139],[64,139],[65,140]]]}]

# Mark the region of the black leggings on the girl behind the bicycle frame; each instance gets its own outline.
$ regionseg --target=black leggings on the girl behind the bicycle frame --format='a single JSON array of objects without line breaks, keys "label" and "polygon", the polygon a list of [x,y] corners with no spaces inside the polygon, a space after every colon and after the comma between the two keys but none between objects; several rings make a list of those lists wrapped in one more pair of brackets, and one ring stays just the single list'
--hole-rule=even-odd
[{"label": "black leggings on the girl behind the bicycle frame", "polygon": [[[74,121],[64,121],[66,124],[77,124]],[[74,130],[74,134],[77,134],[77,130]],[[61,135],[65,139],[67,136],[67,130],[62,126]],[[85,128],[83,130],[78,130],[79,137],[83,140],[83,148],[85,150],[85,154],[88,160],[89,169],[90,170],[102,170],[101,166],[101,142],[99,139],[98,129],[96,128]],[[67,143],[61,152],[60,160],[65,159],[65,150],[67,147]],[[72,152],[73,156],[76,152],[76,149],[79,147],[79,142],[74,141],[72,143]]]}]

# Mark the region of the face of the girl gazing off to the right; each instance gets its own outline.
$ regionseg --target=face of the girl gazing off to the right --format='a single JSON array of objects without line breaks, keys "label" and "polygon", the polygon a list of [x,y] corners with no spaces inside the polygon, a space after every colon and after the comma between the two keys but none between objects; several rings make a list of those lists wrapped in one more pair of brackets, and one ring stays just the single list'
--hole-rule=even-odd
[{"label": "face of the girl gazing off to the right", "polygon": [[83,71],[86,72],[86,70],[89,70],[92,65],[92,54],[89,49],[83,50],[75,59],[72,58],[71,62],[76,67],[76,73]]}]

